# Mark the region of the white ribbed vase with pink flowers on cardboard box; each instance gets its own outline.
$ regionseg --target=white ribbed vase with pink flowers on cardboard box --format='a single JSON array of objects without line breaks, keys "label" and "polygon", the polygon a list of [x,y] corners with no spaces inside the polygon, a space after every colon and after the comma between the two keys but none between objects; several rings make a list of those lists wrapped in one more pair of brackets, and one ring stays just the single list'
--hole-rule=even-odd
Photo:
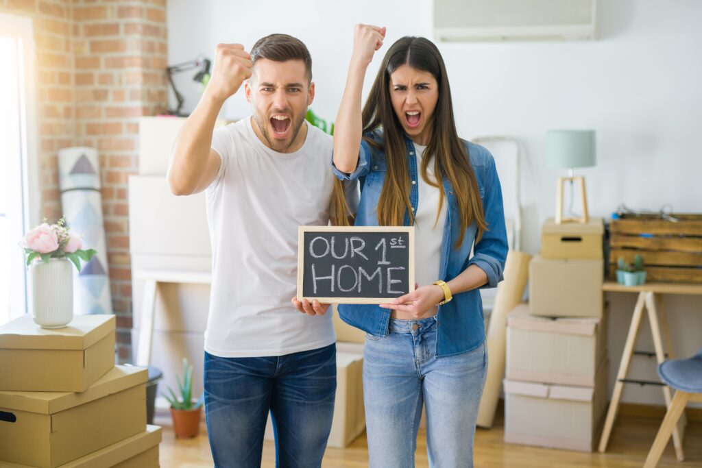
[{"label": "white ribbed vase with pink flowers on cardboard box", "polygon": [[95,250],[83,249],[81,236],[66,226],[64,218],[53,225],[42,220],[22,241],[27,267],[32,268],[34,321],[42,328],[61,328],[73,320],[71,263],[81,271]]}]

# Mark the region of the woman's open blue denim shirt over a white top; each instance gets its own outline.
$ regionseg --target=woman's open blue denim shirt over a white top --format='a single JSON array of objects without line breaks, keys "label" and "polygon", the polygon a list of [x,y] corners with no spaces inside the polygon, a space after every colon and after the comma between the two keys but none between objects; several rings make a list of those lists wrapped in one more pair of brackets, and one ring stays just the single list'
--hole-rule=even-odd
[{"label": "woman's open blue denim shirt over a white top", "polygon": [[[382,142],[382,135],[377,132],[368,135],[373,140]],[[414,145],[405,135],[407,166],[411,180],[417,180],[417,159]],[[448,201],[446,225],[442,240],[442,255],[439,265],[439,278],[449,281],[463,272],[470,265],[477,265],[487,274],[487,283],[483,288],[495,288],[503,279],[503,269],[507,258],[507,234],[502,203],[502,190],[498,179],[495,161],[490,152],[480,145],[463,141],[470,163],[477,178],[480,198],[484,208],[488,229],[482,239],[475,243],[473,255],[471,247],[475,241],[477,227],[475,222],[465,230],[461,246],[456,248],[456,239],[461,232],[461,218],[458,214],[456,197],[449,180],[444,180],[444,194]],[[333,163],[332,163],[333,166]],[[356,170],[343,173],[333,167],[341,180],[359,179],[361,182],[361,200],[356,214],[355,225],[377,226],[377,207],[380,190],[387,172],[385,153],[369,145],[365,140],[361,144]],[[418,185],[411,184],[410,202],[413,210],[417,209]],[[404,218],[404,225],[409,225],[409,215]],[[420,285],[424,286],[424,285]],[[369,333],[369,339],[388,335],[390,309],[377,305],[339,305],[339,315],[343,321]],[[437,349],[436,355],[451,356],[470,351],[478,347],[485,339],[482,300],[477,289],[465,291],[453,296],[453,300],[439,306],[437,315]]]}]

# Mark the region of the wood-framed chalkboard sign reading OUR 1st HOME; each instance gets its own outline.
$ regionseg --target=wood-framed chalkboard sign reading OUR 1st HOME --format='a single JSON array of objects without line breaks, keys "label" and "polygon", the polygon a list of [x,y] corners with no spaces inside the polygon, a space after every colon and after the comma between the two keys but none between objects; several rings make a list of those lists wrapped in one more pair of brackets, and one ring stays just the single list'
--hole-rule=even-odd
[{"label": "wood-framed chalkboard sign reading OUR 1st HOME", "polygon": [[298,298],[383,304],[414,290],[414,227],[300,226]]}]

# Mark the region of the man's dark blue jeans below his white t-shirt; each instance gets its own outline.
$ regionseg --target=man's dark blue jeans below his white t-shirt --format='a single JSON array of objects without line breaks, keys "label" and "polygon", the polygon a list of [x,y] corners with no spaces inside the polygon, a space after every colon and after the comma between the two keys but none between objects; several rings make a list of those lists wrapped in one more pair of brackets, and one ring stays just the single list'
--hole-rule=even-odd
[{"label": "man's dark blue jeans below his white t-shirt", "polygon": [[336,345],[285,356],[205,352],[205,415],[217,468],[258,468],[270,410],[276,467],[322,464],[336,394]]}]

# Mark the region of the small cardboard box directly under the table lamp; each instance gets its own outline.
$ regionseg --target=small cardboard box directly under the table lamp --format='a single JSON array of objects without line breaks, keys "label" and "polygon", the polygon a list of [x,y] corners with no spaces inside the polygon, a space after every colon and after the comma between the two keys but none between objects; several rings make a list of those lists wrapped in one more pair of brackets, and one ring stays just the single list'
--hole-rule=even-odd
[{"label": "small cardboard box directly under the table lamp", "polygon": [[543,258],[592,258],[602,255],[602,218],[590,218],[588,222],[565,222],[557,225],[548,219],[541,227],[541,256]]}]

